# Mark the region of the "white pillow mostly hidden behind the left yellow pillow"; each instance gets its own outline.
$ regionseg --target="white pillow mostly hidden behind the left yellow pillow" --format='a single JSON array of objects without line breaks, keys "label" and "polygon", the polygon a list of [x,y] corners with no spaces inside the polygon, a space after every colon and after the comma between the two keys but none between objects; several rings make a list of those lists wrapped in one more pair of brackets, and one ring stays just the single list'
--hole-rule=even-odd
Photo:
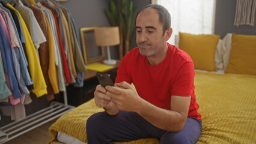
[{"label": "white pillow mostly hidden behind the left yellow pillow", "polygon": [[[179,35],[175,35],[175,46],[176,47],[178,47],[179,38],[180,38]],[[226,49],[225,49],[224,41],[219,39],[218,44],[216,46],[216,50],[215,50],[215,66],[216,66],[217,70],[224,70],[223,55],[224,55],[225,51],[226,51]]]}]

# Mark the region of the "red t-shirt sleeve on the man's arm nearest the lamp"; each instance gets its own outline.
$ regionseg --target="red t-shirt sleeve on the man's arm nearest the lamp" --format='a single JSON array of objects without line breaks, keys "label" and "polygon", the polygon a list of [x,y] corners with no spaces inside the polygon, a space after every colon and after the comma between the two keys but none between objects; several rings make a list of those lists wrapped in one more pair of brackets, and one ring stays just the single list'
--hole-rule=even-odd
[{"label": "red t-shirt sleeve on the man's arm nearest the lamp", "polygon": [[[128,54],[128,53],[127,53]],[[127,63],[127,54],[124,56],[122,59],[118,69],[117,69],[117,77],[115,78],[115,83],[120,83],[120,82],[127,82],[127,83],[132,83],[132,79],[129,76],[129,72],[127,70],[128,63]]]}]

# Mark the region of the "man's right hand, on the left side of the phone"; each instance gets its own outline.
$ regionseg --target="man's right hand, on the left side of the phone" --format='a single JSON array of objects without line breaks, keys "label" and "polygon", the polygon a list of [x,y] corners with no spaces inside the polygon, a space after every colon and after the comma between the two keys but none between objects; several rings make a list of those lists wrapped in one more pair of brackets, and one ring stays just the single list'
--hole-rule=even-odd
[{"label": "man's right hand, on the left side of the phone", "polygon": [[106,89],[101,86],[101,85],[97,85],[95,92],[94,92],[94,100],[95,100],[95,104],[98,107],[107,107],[108,104],[111,102],[111,98],[108,97],[108,95],[105,94],[106,93]]}]

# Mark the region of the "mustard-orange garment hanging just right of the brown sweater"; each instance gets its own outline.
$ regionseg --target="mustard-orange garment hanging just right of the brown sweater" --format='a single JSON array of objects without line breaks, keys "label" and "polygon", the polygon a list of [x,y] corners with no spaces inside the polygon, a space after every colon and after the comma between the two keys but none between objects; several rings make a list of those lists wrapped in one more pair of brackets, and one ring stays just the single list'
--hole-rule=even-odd
[{"label": "mustard-orange garment hanging just right of the brown sweater", "polygon": [[54,94],[59,93],[59,84],[58,84],[58,76],[57,70],[55,65],[55,58],[54,58],[54,47],[53,47],[53,39],[52,39],[52,30],[50,29],[49,22],[47,20],[46,15],[44,14],[44,19],[46,20],[47,25],[47,34],[48,34],[48,47],[49,47],[49,79],[50,84],[52,84],[52,89]]}]

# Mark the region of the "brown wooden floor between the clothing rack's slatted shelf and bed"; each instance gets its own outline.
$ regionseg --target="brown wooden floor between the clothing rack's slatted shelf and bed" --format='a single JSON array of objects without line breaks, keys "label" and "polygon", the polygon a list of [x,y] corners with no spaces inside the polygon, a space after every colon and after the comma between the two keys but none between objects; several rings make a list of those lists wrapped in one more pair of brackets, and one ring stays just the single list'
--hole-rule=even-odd
[{"label": "brown wooden floor between the clothing rack's slatted shelf and bed", "polygon": [[48,132],[48,128],[52,125],[56,119],[47,122],[40,127],[35,128],[34,130],[28,131],[25,134],[22,134],[15,139],[12,139],[4,144],[46,144],[50,139],[50,133]]}]

